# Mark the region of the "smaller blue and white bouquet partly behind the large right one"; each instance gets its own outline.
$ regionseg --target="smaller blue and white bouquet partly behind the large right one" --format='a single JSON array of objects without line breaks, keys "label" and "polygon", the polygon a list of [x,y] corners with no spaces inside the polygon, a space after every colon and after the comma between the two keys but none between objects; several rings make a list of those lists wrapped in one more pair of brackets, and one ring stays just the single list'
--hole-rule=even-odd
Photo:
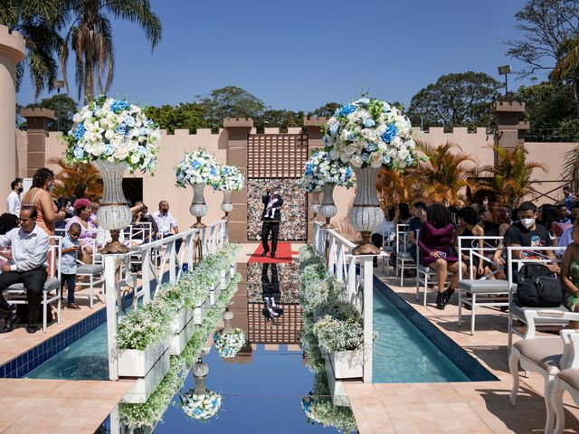
[{"label": "smaller blue and white bouquet partly behind the large right one", "polygon": [[317,150],[309,156],[301,185],[306,192],[321,192],[325,184],[336,184],[346,188],[354,186],[352,169],[340,160],[332,160],[326,151]]}]

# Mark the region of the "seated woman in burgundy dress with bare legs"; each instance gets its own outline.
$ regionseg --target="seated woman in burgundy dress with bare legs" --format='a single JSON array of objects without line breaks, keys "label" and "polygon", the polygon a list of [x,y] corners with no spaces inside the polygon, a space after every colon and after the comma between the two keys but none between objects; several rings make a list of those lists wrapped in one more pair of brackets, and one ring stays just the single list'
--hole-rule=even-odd
[{"label": "seated woman in burgundy dress with bare legs", "polygon": [[[451,212],[441,203],[432,203],[426,210],[426,222],[422,223],[418,247],[421,250],[422,265],[436,270],[438,283],[436,307],[441,310],[451,300],[459,280],[459,259],[452,250],[453,239],[454,224],[451,222]],[[445,289],[449,270],[454,274],[451,278],[451,285]],[[465,265],[462,271],[466,272]]]}]

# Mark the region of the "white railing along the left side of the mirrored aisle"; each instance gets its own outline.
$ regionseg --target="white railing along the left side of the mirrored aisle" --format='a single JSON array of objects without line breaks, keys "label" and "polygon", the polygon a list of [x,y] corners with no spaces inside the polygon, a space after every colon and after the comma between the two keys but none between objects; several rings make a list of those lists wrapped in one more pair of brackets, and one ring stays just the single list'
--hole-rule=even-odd
[{"label": "white railing along the left side of the mirrored aisle", "polygon": [[[151,300],[152,282],[156,288],[164,282],[168,272],[168,283],[176,283],[190,264],[203,259],[208,253],[214,253],[228,242],[227,222],[220,220],[209,224],[203,229],[191,229],[161,240],[147,242],[133,247],[125,254],[103,255],[105,295],[107,307],[107,335],[109,343],[109,379],[119,379],[117,326],[123,295],[120,288],[132,285],[136,297],[133,306],[138,308],[138,298],[143,299],[143,305]],[[177,251],[177,244],[180,244]],[[142,260],[141,289],[137,289],[136,276],[130,275],[130,269],[124,278],[118,281],[116,271],[119,263],[128,258],[140,255]],[[184,267],[186,265],[187,267]],[[122,275],[122,273],[121,273]]]}]

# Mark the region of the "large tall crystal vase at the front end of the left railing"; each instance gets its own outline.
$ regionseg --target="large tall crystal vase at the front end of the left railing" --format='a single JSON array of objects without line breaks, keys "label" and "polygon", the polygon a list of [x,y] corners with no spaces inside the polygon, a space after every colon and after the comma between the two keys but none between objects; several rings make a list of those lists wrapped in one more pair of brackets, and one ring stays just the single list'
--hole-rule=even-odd
[{"label": "large tall crystal vase at the front end of the left railing", "polygon": [[130,225],[132,217],[123,193],[123,175],[128,169],[128,163],[95,160],[92,165],[100,172],[103,187],[97,218],[100,226],[110,231],[112,239],[102,252],[127,253],[128,247],[119,242],[119,233]]}]

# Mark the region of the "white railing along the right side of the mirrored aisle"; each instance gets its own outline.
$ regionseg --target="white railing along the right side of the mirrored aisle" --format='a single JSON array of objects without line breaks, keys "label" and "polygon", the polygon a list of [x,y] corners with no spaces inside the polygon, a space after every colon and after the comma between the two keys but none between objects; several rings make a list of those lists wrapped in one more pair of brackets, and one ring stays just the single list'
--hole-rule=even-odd
[{"label": "white railing along the right side of the mirrored aisle", "polygon": [[[345,282],[347,297],[364,318],[364,382],[372,382],[373,359],[373,297],[374,267],[372,255],[356,256],[352,250],[356,244],[346,240],[337,231],[322,229],[321,223],[314,222],[314,247],[318,254],[326,259],[327,269],[341,282]],[[356,265],[360,266],[359,278],[356,276]],[[360,289],[362,297],[360,297]]]}]

